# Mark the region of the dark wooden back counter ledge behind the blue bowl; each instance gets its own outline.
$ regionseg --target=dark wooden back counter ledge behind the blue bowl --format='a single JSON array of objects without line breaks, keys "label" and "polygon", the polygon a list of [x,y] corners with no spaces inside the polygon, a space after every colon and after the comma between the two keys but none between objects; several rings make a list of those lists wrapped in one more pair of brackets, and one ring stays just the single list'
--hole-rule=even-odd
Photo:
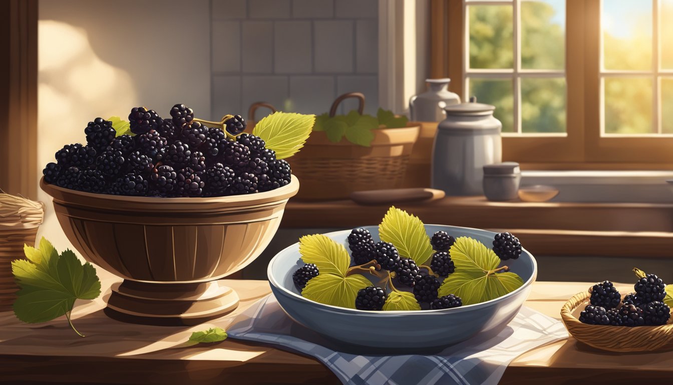
[{"label": "dark wooden back counter ledge behind the blue bowl", "polygon": [[[389,206],[291,200],[281,227],[378,225]],[[427,224],[510,231],[538,255],[581,251],[582,255],[670,258],[668,250],[673,248],[673,204],[489,202],[483,196],[466,196],[395,206]]]}]

